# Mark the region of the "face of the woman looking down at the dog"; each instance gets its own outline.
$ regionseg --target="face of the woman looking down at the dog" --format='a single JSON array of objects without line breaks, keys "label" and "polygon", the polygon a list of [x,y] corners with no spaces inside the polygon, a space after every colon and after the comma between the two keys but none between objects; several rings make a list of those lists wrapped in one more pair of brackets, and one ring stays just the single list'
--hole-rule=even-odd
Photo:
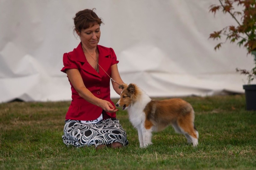
[{"label": "face of the woman looking down at the dog", "polygon": [[77,31],[80,36],[81,42],[87,48],[95,48],[99,43],[100,38],[100,26],[95,24],[90,28],[82,29],[81,32]]}]

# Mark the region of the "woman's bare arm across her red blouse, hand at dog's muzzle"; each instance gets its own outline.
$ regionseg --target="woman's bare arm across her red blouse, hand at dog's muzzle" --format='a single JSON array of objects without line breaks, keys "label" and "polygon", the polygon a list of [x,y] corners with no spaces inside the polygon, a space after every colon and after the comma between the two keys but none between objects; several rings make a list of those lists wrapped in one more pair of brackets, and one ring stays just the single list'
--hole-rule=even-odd
[{"label": "woman's bare arm across her red blouse, hand at dog's muzzle", "polygon": [[112,113],[118,110],[115,109],[115,107],[109,101],[97,98],[90,92],[90,90],[88,90],[85,87],[83,79],[78,69],[68,69],[66,70],[66,73],[68,75],[69,81],[72,83],[75,90],[78,92],[78,95],[84,98],[84,100],[101,107],[106,112]]}]

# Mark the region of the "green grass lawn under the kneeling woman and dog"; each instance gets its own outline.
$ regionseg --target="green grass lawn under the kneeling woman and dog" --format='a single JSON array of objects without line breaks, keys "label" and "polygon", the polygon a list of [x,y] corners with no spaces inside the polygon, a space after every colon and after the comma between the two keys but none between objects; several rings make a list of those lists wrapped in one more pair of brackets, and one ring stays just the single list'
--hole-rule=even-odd
[{"label": "green grass lawn under the kneeling woman and dog", "polygon": [[139,148],[122,110],[125,148],[66,147],[61,136],[70,102],[2,103],[0,169],[256,169],[256,112],[245,110],[244,95],[184,99],[196,112],[197,147],[168,127]]}]

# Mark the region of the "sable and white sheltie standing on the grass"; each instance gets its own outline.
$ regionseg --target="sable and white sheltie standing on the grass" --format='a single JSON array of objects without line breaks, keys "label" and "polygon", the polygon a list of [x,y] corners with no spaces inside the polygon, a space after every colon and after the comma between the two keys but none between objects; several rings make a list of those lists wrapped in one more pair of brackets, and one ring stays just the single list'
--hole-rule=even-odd
[{"label": "sable and white sheltie standing on the grass", "polygon": [[152,144],[152,131],[161,131],[168,125],[197,146],[199,133],[194,125],[194,110],[188,102],[180,98],[152,100],[136,84],[121,84],[119,88],[123,91],[116,106],[127,109],[130,122],[138,130],[141,148]]}]

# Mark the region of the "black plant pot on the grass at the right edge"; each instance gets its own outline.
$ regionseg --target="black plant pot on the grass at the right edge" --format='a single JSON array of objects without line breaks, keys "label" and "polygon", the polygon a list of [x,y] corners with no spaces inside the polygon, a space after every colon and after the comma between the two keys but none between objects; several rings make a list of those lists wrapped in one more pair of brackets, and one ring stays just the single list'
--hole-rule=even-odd
[{"label": "black plant pot on the grass at the right edge", "polygon": [[247,110],[256,110],[256,84],[243,85]]}]

